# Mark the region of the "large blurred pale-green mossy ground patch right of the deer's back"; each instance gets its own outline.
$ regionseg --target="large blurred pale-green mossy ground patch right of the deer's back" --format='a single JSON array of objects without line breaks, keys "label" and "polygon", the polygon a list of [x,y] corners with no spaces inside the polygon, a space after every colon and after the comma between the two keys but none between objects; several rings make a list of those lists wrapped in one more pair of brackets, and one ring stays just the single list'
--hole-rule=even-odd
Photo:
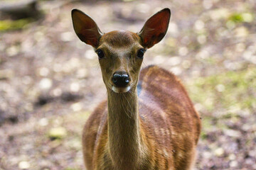
[{"label": "large blurred pale-green mossy ground patch right of the deer's back", "polygon": [[227,115],[220,116],[252,111],[256,106],[256,68],[193,79],[188,91],[192,101],[201,103],[208,112],[224,108]]}]

